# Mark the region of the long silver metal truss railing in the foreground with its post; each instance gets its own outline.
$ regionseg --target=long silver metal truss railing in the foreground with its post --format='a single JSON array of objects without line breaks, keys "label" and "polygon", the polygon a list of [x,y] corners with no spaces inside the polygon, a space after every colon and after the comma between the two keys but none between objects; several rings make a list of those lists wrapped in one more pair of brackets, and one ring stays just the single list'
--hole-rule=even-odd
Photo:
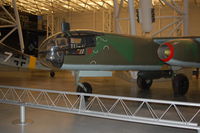
[{"label": "long silver metal truss railing in the foreground with its post", "polygon": [[[85,97],[90,97],[85,101]],[[200,104],[0,86],[0,103],[200,132]]]}]

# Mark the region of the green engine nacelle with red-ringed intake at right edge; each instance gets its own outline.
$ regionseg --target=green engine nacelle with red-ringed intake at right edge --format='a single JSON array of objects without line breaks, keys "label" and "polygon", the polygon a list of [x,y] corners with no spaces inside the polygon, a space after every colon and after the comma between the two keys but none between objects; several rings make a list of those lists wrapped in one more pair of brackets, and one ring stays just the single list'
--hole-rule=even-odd
[{"label": "green engine nacelle with red-ringed intake at right edge", "polygon": [[191,38],[165,42],[158,48],[158,57],[172,66],[200,67],[200,43]]}]

